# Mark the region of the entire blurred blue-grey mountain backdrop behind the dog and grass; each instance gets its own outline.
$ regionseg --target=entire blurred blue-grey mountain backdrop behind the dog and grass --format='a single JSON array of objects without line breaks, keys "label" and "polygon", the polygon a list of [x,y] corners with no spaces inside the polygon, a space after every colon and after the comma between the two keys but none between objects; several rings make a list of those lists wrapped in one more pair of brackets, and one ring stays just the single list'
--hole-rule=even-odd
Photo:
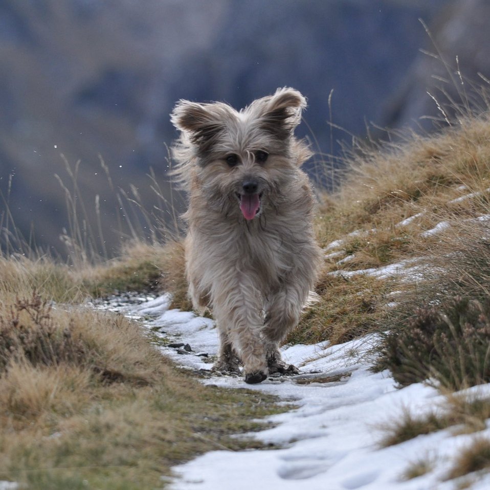
[{"label": "entire blurred blue-grey mountain backdrop behind the dog and grass", "polygon": [[297,88],[314,178],[367,127],[430,131],[422,117],[441,114],[427,92],[469,85],[424,50],[484,84],[489,21],[487,0],[0,0],[4,247],[21,233],[65,254],[63,229],[78,226],[112,256],[121,237],[150,234],[153,212],[170,218],[181,98],[240,108]]}]

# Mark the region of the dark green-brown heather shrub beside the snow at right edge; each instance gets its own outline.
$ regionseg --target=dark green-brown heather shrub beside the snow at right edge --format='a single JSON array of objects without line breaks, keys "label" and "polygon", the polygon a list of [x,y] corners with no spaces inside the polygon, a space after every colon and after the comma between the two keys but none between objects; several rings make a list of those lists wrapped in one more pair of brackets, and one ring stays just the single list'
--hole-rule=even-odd
[{"label": "dark green-brown heather shrub beside the snow at right edge", "polygon": [[450,389],[490,381],[490,298],[456,297],[416,310],[385,337],[377,369],[402,386],[432,378]]}]

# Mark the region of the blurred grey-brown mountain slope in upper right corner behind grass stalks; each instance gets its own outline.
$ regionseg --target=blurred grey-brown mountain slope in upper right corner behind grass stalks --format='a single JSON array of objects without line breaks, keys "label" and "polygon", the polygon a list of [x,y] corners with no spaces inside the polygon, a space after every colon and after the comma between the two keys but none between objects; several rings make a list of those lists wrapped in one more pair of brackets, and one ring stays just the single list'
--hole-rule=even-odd
[{"label": "blurred grey-brown mountain slope in upper right corner behind grass stalks", "polygon": [[[449,118],[455,112],[448,104],[475,108],[481,103],[473,88],[477,92],[479,86],[490,88],[485,81],[490,78],[489,23],[490,3],[486,0],[462,0],[444,6],[430,26],[433,42],[425,42],[430,54],[419,53],[407,70],[387,103],[384,124],[425,131],[433,129],[432,118],[442,119],[444,124],[444,116],[427,92],[443,106]],[[420,119],[421,116],[427,118]]]}]

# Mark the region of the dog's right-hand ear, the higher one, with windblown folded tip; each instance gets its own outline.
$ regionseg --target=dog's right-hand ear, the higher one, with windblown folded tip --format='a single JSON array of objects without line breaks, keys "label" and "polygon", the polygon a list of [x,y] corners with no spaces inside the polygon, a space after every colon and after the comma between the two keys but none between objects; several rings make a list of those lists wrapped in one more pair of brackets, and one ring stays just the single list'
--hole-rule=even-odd
[{"label": "dog's right-hand ear, the higher one, with windblown folded tip", "polygon": [[289,138],[301,122],[301,110],[306,99],[294,88],[278,88],[270,97],[256,101],[260,103],[259,118],[264,130],[280,140]]}]

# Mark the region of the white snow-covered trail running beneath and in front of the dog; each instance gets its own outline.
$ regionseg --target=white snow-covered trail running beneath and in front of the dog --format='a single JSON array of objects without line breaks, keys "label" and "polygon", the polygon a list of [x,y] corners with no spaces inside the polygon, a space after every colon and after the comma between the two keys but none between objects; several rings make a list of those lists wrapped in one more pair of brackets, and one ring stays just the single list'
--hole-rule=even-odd
[{"label": "white snow-covered trail running beneath and in front of the dog", "polygon": [[[136,306],[114,306],[169,342],[189,344],[193,352],[162,347],[182,366],[209,370],[216,353],[217,332],[210,319],[169,310],[167,295]],[[388,372],[371,373],[359,361],[375,342],[373,336],[328,347],[295,345],[283,350],[287,362],[300,369],[291,377],[270,377],[259,385],[241,378],[211,375],[204,382],[230,388],[248,388],[295,400],[298,409],[270,417],[277,425],[253,436],[282,449],[244,452],[212,451],[176,466],[172,490],[450,490],[456,480],[444,481],[450,462],[474,435],[454,436],[451,430],[419,436],[397,446],[380,449],[381,425],[403,410],[424,413],[441,405],[443,397],[422,384],[397,390]],[[180,352],[183,352],[180,349]],[[201,355],[197,355],[201,354]],[[207,361],[207,362],[206,362]],[[479,387],[488,395],[488,385]],[[479,435],[490,436],[487,429]],[[410,463],[429,460],[433,470],[403,481]],[[490,488],[490,475],[473,483],[473,490]]]}]

